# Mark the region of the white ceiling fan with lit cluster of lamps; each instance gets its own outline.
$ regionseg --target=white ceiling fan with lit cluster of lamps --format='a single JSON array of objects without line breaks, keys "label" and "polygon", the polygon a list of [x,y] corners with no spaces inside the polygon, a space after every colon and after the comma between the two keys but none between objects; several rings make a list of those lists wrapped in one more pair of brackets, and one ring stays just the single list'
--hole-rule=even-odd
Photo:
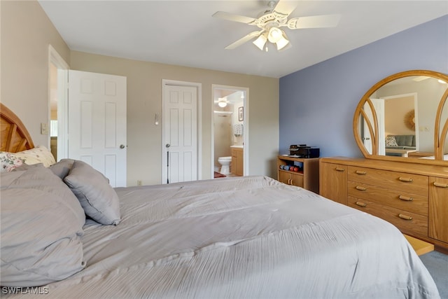
[{"label": "white ceiling fan with lit cluster of lamps", "polygon": [[238,41],[235,41],[235,43],[231,43],[229,46],[225,47],[226,49],[235,49],[243,43],[257,38],[253,41],[253,44],[260,50],[266,49],[267,51],[267,41],[275,43],[277,50],[282,50],[286,46],[290,46],[290,43],[288,36],[286,36],[286,33],[281,27],[288,27],[289,29],[336,27],[340,19],[340,15],[314,15],[288,20],[290,13],[295,10],[295,4],[291,3],[291,1],[269,1],[267,5],[269,8],[256,19],[245,17],[243,15],[225,13],[223,11],[214,13],[213,16],[215,18],[246,23],[247,25],[257,26],[261,29],[247,34]]}]

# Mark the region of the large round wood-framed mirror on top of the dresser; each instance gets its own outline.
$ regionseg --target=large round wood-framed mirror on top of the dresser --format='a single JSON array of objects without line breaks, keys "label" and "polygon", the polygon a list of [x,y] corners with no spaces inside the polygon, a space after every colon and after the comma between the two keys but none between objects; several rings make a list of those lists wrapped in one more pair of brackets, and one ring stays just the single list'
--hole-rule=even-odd
[{"label": "large round wood-framed mirror on top of the dresser", "polygon": [[446,164],[448,76],[404,71],[384,78],[360,99],[353,134],[365,158]]}]

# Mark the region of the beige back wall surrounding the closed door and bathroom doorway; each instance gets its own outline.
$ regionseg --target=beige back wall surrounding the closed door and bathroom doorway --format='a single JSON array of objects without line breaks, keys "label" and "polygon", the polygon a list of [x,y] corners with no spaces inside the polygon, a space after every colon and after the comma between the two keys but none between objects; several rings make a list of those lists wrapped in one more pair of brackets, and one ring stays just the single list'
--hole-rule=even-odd
[{"label": "beige back wall surrounding the closed door and bathroom doorway", "polygon": [[211,85],[249,88],[249,174],[276,176],[279,144],[279,79],[194,69],[154,62],[71,52],[71,69],[127,77],[127,183],[161,182],[162,80],[202,84],[202,179],[209,179],[211,163]]}]

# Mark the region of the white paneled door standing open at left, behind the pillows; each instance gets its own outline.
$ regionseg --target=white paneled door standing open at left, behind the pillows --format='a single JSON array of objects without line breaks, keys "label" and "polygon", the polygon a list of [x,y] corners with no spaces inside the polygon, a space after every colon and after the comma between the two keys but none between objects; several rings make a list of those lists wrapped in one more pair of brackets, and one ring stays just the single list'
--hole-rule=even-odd
[{"label": "white paneled door standing open at left, behind the pillows", "polygon": [[126,77],[69,71],[69,158],[126,186]]}]

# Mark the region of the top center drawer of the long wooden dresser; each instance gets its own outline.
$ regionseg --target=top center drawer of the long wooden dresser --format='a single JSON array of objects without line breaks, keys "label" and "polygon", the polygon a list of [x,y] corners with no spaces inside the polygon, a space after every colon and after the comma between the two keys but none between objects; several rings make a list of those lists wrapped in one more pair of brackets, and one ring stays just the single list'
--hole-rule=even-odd
[{"label": "top center drawer of the long wooden dresser", "polygon": [[428,197],[428,176],[349,166],[349,181]]}]

